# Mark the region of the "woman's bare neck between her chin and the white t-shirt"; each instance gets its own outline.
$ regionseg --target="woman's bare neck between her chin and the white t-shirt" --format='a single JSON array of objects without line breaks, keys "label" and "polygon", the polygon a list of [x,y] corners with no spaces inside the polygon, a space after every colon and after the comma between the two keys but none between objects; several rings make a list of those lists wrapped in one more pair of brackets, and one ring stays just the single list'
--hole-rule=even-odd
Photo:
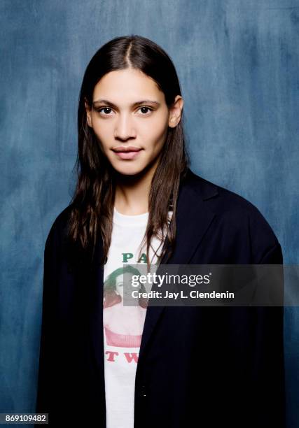
[{"label": "woman's bare neck between her chin and the white t-shirt", "polygon": [[114,205],[119,213],[139,215],[148,212],[148,197],[156,166],[146,168],[133,176],[116,173]]}]

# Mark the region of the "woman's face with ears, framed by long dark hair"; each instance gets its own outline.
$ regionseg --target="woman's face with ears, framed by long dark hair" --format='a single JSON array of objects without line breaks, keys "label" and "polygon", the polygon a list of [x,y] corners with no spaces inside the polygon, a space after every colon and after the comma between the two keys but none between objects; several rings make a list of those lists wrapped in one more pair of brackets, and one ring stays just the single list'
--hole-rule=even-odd
[{"label": "woman's face with ears, framed by long dark hair", "polygon": [[168,108],[156,83],[129,68],[103,76],[95,85],[92,107],[85,108],[88,125],[113,168],[134,175],[158,165],[167,128],[176,127],[181,118],[183,99],[178,95]]}]

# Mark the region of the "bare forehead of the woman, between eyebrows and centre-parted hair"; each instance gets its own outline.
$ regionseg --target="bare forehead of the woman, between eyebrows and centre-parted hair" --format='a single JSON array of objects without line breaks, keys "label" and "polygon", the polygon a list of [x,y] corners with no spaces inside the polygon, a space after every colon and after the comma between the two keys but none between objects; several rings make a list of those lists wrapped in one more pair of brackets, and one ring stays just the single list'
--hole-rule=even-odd
[{"label": "bare forehead of the woman, between eyebrows and centre-parted hair", "polygon": [[157,83],[142,71],[124,69],[110,71],[99,80],[93,92],[93,101],[97,99],[109,99],[121,105],[133,103],[137,99],[155,99],[162,102],[165,98]]}]

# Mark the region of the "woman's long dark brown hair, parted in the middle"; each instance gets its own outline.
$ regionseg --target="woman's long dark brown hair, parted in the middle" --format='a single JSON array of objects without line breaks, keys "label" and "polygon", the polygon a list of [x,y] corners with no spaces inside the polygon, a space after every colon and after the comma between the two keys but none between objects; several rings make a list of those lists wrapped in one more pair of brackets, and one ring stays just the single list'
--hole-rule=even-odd
[{"label": "woman's long dark brown hair, parted in the middle", "polygon": [[[99,260],[106,263],[111,244],[113,206],[116,183],[113,167],[101,150],[92,128],[88,126],[85,101],[92,106],[95,85],[110,71],[132,67],[155,80],[165,94],[167,106],[174,103],[176,95],[181,95],[179,79],[172,60],[153,41],[142,36],[131,35],[113,38],[104,44],[90,60],[85,70],[78,100],[78,155],[76,169],[78,182],[71,200],[71,214],[68,236],[77,248],[94,257],[97,239],[102,238],[103,252]],[[189,159],[183,134],[183,115],[175,128],[168,128],[167,138],[162,148],[160,162],[151,182],[148,200],[148,224],[144,234],[146,257],[149,267],[151,238],[165,238],[158,262],[167,252],[172,254],[176,235],[176,201],[179,184],[186,176]],[[172,210],[172,220],[168,224],[168,211]]]}]

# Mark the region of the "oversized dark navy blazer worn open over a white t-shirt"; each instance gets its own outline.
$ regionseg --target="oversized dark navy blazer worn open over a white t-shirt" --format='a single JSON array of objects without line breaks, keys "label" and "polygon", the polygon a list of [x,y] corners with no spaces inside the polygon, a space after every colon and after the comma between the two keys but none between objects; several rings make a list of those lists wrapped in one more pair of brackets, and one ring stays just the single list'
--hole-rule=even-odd
[{"label": "oversized dark navy blazer worn open over a white t-shirt", "polygon": [[[45,246],[36,412],[49,413],[50,427],[104,428],[102,239],[91,267],[70,269],[69,211],[58,215]],[[190,169],[176,227],[168,264],[282,264],[281,246],[258,209]],[[284,428],[283,312],[148,306],[134,428]]]}]

